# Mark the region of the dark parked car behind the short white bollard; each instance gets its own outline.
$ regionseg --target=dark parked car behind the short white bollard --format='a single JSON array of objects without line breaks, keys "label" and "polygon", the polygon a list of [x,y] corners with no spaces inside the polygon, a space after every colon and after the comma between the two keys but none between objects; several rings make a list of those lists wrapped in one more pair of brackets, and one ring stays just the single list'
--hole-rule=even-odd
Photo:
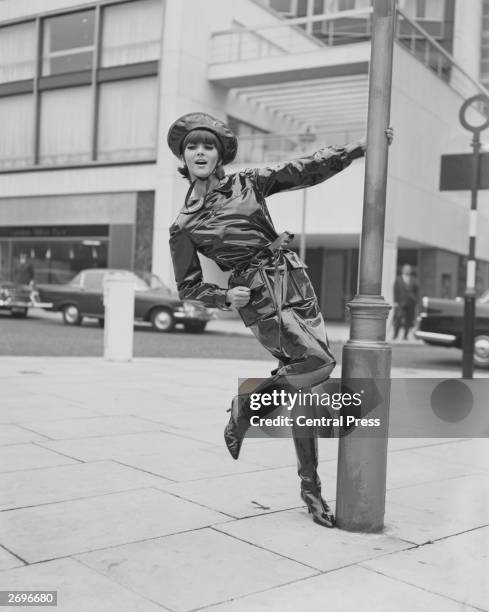
[{"label": "dark parked car behind the short white bollard", "polygon": [[182,301],[163,283],[160,288],[152,289],[140,276],[128,270],[82,270],[69,283],[39,284],[37,289],[42,300],[52,302],[50,310],[62,313],[67,325],[80,325],[83,317],[95,317],[103,325],[104,280],[112,274],[123,274],[134,280],[134,318],[150,322],[157,331],[169,332],[181,324],[187,332],[201,333],[215,316],[202,302]]}]

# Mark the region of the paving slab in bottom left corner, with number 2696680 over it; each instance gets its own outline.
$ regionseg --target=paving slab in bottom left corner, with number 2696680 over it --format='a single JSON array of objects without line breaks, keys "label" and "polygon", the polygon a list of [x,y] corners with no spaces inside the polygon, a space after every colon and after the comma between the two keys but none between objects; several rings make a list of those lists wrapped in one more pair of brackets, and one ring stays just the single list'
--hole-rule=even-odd
[{"label": "paving slab in bottom left corner, with number 2696680 over it", "polygon": [[32,612],[162,612],[164,608],[72,559],[2,572],[2,588],[58,592],[56,608],[11,608]]}]

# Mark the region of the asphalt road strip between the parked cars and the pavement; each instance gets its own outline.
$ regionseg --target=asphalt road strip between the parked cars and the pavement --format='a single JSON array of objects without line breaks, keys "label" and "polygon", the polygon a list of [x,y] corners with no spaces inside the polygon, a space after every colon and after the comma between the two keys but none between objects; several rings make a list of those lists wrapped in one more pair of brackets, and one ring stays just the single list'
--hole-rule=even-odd
[{"label": "asphalt road strip between the parked cars and the pavement", "polygon": [[[80,327],[64,325],[61,315],[31,310],[27,319],[0,314],[0,355],[97,357],[103,354],[104,330],[96,320]],[[331,348],[341,362],[342,341],[332,340]],[[201,357],[211,359],[270,360],[269,353],[251,335],[220,329],[211,322],[203,334],[155,332],[137,324],[134,332],[135,357]],[[461,352],[422,344],[396,343],[392,347],[393,367],[444,369],[460,372]]]}]

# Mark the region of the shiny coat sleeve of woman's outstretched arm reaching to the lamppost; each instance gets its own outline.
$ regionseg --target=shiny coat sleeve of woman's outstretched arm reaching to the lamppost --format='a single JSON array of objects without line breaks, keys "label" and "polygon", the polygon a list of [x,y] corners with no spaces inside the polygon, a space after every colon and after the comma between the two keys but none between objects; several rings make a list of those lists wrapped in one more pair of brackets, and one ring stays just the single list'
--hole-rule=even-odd
[{"label": "shiny coat sleeve of woman's outstretched arm reaching to the lamppost", "polygon": [[341,172],[357,157],[363,157],[360,145],[326,147],[307,157],[268,168],[257,168],[255,181],[263,196],[318,185]]}]

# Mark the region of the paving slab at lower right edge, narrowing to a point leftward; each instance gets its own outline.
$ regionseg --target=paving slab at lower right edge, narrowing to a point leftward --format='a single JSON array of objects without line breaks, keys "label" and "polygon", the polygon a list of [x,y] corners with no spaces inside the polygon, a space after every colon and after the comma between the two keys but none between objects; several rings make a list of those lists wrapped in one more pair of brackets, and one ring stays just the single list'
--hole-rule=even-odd
[{"label": "paving slab at lower right edge, narrowing to a point leftward", "polygon": [[489,609],[489,527],[373,559],[363,565],[450,597],[461,606]]}]

